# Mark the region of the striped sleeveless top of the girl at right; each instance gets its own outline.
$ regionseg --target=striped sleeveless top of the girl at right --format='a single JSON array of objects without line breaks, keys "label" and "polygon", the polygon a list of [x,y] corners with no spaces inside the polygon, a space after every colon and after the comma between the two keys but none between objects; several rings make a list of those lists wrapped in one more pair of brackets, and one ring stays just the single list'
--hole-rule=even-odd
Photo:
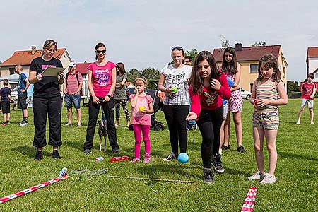
[{"label": "striped sleeveless top of the girl at right", "polygon": [[[278,99],[278,91],[277,85],[273,81],[261,83],[260,81],[256,81],[256,98],[259,99],[267,99],[267,100],[277,100]],[[260,110],[278,110],[278,106],[274,105],[265,105],[264,107],[255,107]]]}]

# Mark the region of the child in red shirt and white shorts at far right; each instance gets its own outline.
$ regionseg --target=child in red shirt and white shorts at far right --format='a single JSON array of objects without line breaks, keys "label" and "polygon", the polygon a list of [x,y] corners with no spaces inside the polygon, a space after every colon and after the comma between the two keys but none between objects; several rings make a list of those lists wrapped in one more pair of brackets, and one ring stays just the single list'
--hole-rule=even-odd
[{"label": "child in red shirt and white shorts at far right", "polygon": [[305,79],[305,82],[302,83],[302,86],[300,87],[300,92],[302,93],[302,105],[298,112],[296,124],[300,124],[300,118],[302,117],[302,112],[304,112],[307,103],[310,111],[310,124],[314,124],[314,94],[316,93],[316,85],[312,83],[313,79],[314,73],[308,74],[307,79]]}]

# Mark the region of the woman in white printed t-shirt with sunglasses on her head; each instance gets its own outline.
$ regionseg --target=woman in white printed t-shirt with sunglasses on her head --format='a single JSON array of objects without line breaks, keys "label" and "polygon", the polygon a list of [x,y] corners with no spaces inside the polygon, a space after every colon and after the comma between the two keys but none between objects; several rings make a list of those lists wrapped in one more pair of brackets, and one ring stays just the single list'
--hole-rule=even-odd
[{"label": "woman in white printed t-shirt with sunglasses on her head", "polygon": [[163,112],[169,128],[172,150],[170,155],[163,159],[165,161],[177,159],[178,152],[187,152],[186,117],[190,105],[187,81],[192,71],[192,66],[182,64],[184,59],[182,47],[172,47],[171,56],[173,64],[161,70],[158,83],[158,90],[165,92]]}]

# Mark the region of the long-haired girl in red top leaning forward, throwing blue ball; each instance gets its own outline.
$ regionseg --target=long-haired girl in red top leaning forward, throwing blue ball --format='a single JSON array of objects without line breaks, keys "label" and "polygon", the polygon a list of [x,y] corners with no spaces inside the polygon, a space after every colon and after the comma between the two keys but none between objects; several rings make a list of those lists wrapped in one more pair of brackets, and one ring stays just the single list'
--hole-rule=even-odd
[{"label": "long-haired girl in red top leaning forward, throwing blue ball", "polygon": [[[225,74],[216,69],[211,52],[202,51],[196,56],[189,79],[191,112],[187,120],[196,119],[201,135],[201,158],[204,165],[204,182],[213,182],[211,159],[216,160],[223,121],[222,99],[229,100],[231,91]],[[220,160],[220,158],[218,158]]]}]

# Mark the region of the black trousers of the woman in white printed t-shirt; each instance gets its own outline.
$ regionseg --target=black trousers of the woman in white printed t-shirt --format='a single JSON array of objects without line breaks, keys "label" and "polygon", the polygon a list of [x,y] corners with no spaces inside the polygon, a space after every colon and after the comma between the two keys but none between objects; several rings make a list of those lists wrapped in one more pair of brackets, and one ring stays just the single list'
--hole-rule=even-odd
[{"label": "black trousers of the woman in white printed t-shirt", "polygon": [[189,114],[189,105],[163,105],[163,112],[169,128],[171,151],[178,153],[178,141],[180,153],[187,152],[187,115]]}]

